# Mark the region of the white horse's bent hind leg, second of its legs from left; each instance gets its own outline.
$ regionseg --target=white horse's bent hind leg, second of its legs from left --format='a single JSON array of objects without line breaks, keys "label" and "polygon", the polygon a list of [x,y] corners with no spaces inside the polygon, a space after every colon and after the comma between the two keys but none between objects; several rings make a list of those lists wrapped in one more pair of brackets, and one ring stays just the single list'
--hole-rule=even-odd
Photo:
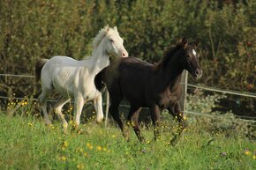
[{"label": "white horse's bent hind leg, second of its legs from left", "polygon": [[62,110],[62,107],[64,107],[64,104],[66,104],[70,100],[71,99],[63,97],[59,101],[57,101],[56,105],[54,106],[54,111],[55,111],[56,115],[58,116],[58,118],[60,119],[60,121],[62,122],[62,126],[64,128],[64,133],[67,132],[68,122],[66,122],[61,110]]}]

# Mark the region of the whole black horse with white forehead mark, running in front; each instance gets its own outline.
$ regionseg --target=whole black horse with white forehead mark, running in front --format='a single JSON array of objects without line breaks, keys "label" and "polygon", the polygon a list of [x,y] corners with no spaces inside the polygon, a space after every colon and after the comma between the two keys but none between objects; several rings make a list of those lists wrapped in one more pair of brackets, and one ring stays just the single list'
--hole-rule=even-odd
[{"label": "whole black horse with white forehead mark, running in front", "polygon": [[173,144],[184,129],[184,114],[178,100],[181,96],[180,79],[183,70],[188,70],[192,77],[200,78],[202,70],[196,53],[199,40],[189,42],[186,38],[178,41],[176,46],[169,47],[159,63],[151,64],[135,57],[118,58],[103,69],[94,79],[98,90],[107,85],[110,98],[109,113],[122,130],[124,137],[128,132],[118,114],[122,99],[130,102],[128,124],[132,125],[139,141],[145,139],[139,130],[139,111],[148,107],[154,124],[154,138],[159,137],[160,114],[163,109],[177,116],[179,129],[170,141]]}]

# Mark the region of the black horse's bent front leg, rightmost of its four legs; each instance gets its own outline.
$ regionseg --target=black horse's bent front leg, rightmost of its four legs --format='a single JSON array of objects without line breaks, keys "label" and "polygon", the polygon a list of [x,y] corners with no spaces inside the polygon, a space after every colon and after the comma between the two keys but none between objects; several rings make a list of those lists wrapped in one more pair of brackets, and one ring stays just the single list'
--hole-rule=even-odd
[{"label": "black horse's bent front leg, rightmost of its four legs", "polygon": [[167,109],[170,115],[173,115],[173,117],[177,118],[177,122],[178,122],[177,133],[170,141],[170,144],[174,145],[177,141],[177,138],[180,137],[183,129],[185,128],[184,114],[183,112],[181,112],[178,103],[174,107],[168,107]]}]

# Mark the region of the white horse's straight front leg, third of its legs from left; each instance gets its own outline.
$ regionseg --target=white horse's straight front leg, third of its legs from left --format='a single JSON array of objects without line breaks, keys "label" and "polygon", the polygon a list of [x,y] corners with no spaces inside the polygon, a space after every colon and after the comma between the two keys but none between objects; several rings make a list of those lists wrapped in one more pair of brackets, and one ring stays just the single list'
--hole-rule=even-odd
[{"label": "white horse's straight front leg, third of its legs from left", "polygon": [[74,103],[74,123],[75,123],[75,128],[77,129],[80,124],[80,116],[82,113],[82,109],[84,106],[85,100],[81,95],[78,95],[75,98],[75,103]]}]

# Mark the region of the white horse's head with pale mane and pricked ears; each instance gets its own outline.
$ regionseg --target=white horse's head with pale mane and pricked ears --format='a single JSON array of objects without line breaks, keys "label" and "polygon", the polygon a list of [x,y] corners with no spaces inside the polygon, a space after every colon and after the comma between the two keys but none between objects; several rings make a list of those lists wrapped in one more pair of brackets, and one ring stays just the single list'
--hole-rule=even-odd
[{"label": "white horse's head with pale mane and pricked ears", "polygon": [[115,57],[127,57],[128,52],[124,48],[124,40],[120,37],[117,26],[111,28],[105,26],[94,38],[94,48],[102,45],[108,55]]}]

